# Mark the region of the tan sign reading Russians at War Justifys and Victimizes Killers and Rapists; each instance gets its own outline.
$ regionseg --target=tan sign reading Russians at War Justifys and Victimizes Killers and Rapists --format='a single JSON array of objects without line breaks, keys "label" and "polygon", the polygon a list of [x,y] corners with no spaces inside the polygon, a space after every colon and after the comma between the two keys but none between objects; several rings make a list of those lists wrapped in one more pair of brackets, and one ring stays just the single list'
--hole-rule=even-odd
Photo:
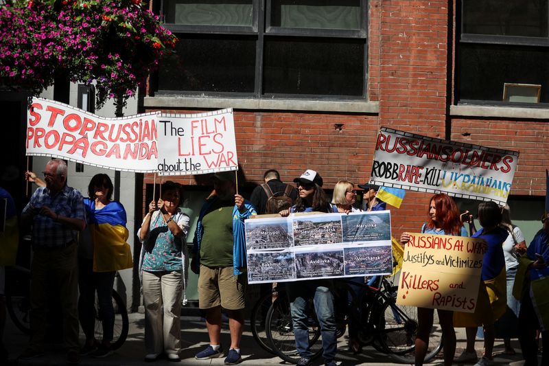
[{"label": "tan sign reading Russians at War Justifys and Victimizes Killers and Rapists", "polygon": [[404,248],[397,304],[474,312],[486,242],[411,233]]}]

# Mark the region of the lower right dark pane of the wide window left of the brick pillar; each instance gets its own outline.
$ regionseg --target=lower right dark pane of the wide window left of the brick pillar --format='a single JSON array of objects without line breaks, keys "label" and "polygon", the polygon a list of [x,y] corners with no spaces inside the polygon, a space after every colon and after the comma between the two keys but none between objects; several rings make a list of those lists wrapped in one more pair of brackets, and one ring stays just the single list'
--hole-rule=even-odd
[{"label": "lower right dark pane of the wide window left of the brick pillar", "polygon": [[265,41],[265,94],[362,96],[364,72],[364,40]]}]

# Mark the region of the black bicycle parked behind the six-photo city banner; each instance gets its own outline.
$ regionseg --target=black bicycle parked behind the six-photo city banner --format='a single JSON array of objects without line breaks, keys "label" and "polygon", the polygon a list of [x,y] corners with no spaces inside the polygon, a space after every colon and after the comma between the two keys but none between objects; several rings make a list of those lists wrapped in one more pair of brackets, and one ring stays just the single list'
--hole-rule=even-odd
[{"label": "black bicycle parked behind the six-photo city banner", "polygon": [[[338,288],[344,288],[344,293],[351,293],[351,304],[349,308],[361,309],[351,314],[360,314],[358,319],[343,317],[342,312],[348,313],[349,308],[337,306],[336,300],[336,323],[338,323],[338,335],[344,332],[344,324],[348,321],[359,325],[359,339],[364,345],[373,345],[376,350],[391,356],[395,361],[401,363],[414,362],[414,341],[417,332],[417,312],[412,306],[397,306],[397,286],[393,286],[387,279],[380,280],[378,288],[371,288],[366,284],[356,284],[347,279],[336,279]],[[363,295],[358,297],[349,285],[360,286]],[[341,295],[340,295],[341,296]],[[317,344],[320,337],[320,328],[314,309],[309,306],[311,312],[309,344],[312,347],[312,356],[316,358],[322,353],[320,344]],[[343,326],[341,321],[344,321]],[[439,327],[434,323],[431,334],[430,345],[434,345],[425,356],[428,362],[442,348],[442,336]],[[288,363],[297,363],[299,354],[295,350],[292,319],[290,316],[290,304],[287,296],[279,296],[272,303],[268,310],[266,319],[266,335],[272,351]]]}]

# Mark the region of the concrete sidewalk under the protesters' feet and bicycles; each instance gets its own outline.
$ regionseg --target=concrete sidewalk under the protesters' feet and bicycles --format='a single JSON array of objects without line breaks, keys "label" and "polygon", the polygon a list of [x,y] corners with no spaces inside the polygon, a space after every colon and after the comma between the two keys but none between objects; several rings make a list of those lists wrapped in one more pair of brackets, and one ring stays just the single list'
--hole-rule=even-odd
[{"label": "concrete sidewalk under the protesters' feet and bicycles", "polygon": [[[144,321],[143,314],[132,313],[128,314],[130,318],[130,331],[126,343],[115,352],[106,358],[89,358],[82,357],[80,359],[80,365],[223,365],[224,358],[215,358],[212,360],[198,361],[194,358],[194,355],[202,350],[202,347],[207,345],[208,335],[205,329],[205,323],[200,317],[181,317],[182,328],[182,342],[183,352],[181,353],[182,361],[180,363],[174,363],[167,361],[166,359],[159,359],[154,363],[145,363],[143,356],[145,356],[145,347],[143,342]],[[463,328],[457,329],[458,345],[456,355],[460,354],[465,348],[465,330]],[[83,334],[81,334],[83,337]],[[81,339],[84,341],[84,339]],[[10,317],[6,321],[6,329],[4,333],[4,341],[8,351],[10,352],[10,365],[65,365],[65,352],[59,345],[52,346],[52,350],[47,352],[45,356],[40,358],[34,358],[32,360],[25,360],[16,362],[16,357],[25,349],[27,345],[27,336],[21,333],[11,323]],[[501,339],[496,340],[494,354],[496,365],[523,365],[522,354],[520,354],[520,347],[518,341],[513,340],[513,347],[517,351],[514,356],[508,356],[503,354],[504,346]],[[222,344],[227,347],[230,344],[229,330],[224,325],[222,331]],[[265,352],[259,347],[249,330],[248,324],[244,329],[242,336],[242,358],[243,365],[283,365],[283,361]],[[482,354],[482,341],[476,341],[477,354]],[[442,352],[437,356],[434,362],[425,365],[442,365]],[[373,347],[364,347],[362,354],[354,355],[352,352],[347,351],[347,341],[344,337],[341,337],[338,343],[338,357],[337,361],[342,365],[399,365],[395,363],[390,356],[377,352]],[[315,366],[323,365],[323,361],[320,358],[314,363]]]}]

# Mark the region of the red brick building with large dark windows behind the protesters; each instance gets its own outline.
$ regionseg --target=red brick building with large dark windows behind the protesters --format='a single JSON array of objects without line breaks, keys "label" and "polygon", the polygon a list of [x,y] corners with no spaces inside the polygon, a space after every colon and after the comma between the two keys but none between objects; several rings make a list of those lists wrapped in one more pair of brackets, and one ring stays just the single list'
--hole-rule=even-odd
[{"label": "red brick building with large dark windows behind the protesters", "polygon": [[[156,0],[153,8],[180,42],[151,78],[143,108],[233,107],[246,181],[260,183],[268,168],[290,181],[311,168],[327,189],[340,179],[364,183],[377,129],[387,126],[519,151],[513,219],[527,242],[540,227],[548,0]],[[203,184],[177,179],[189,192]],[[393,210],[395,237],[421,226],[429,196],[407,193]]]}]

